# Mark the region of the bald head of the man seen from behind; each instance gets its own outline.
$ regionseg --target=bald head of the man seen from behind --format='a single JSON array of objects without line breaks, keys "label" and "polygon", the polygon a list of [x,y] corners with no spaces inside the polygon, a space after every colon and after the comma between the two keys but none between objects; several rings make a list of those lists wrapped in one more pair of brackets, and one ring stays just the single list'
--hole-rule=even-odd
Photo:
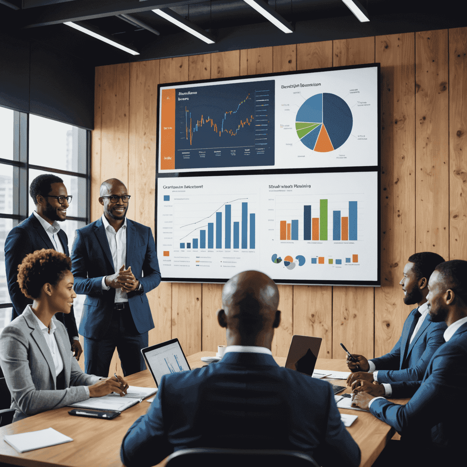
[{"label": "bald head of the man seen from behind", "polygon": [[227,341],[231,338],[228,345],[270,348],[280,323],[278,304],[279,290],[266,274],[244,271],[233,276],[222,290],[223,309],[218,312],[219,324],[227,328]]}]

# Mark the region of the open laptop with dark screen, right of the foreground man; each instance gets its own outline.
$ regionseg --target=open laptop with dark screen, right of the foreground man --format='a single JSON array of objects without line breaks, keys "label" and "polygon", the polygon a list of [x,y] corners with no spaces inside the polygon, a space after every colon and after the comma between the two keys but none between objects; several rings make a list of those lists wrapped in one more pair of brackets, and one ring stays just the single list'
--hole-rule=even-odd
[{"label": "open laptop with dark screen, right of the foreground man", "polygon": [[[319,347],[321,347],[321,340],[320,337],[292,336],[285,368],[312,376],[319,354]],[[332,384],[332,386],[334,394],[346,389],[345,386],[336,386],[335,384]]]}]

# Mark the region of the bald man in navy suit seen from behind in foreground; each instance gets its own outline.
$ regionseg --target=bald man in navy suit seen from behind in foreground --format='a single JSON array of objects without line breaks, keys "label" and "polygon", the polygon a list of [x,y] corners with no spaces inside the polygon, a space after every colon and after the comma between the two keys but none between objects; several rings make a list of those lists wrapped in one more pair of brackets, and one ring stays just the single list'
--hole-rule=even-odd
[{"label": "bald man in navy suit seen from behind in foreground", "polygon": [[360,464],[360,449],[340,420],[328,382],[277,365],[279,291],[246,271],[222,291],[218,321],[227,348],[218,363],[164,375],[154,402],[123,439],[127,466],[153,466],[191,447],[302,451],[319,465]]}]

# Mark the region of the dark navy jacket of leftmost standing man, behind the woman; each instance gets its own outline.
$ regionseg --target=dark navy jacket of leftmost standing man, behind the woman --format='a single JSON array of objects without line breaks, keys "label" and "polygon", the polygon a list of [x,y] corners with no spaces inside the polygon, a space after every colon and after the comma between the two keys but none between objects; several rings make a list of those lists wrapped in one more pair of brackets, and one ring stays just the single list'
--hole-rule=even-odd
[{"label": "dark navy jacket of leftmost standing man, behind the woman", "polygon": [[[70,256],[66,233],[63,230],[59,230],[57,235],[62,242],[65,255]],[[35,218],[34,214],[31,214],[28,219],[24,219],[20,224],[14,226],[5,240],[5,269],[7,272],[8,291],[11,303],[13,304],[12,321],[21,315],[27,305],[32,304],[32,300],[25,297],[21,292],[20,284],[18,283],[18,266],[26,255],[36,250],[42,250],[42,248],[55,249],[49,235],[47,235],[47,232]],[[55,317],[65,325],[70,340],[74,336],[78,336],[73,308],[71,308],[69,314],[57,313]]]}]

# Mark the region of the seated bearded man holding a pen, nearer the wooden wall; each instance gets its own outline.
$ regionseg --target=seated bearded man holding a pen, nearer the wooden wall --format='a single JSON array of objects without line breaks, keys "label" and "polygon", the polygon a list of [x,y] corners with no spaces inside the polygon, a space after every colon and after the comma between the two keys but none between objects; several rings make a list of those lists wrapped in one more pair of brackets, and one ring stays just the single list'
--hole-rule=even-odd
[{"label": "seated bearded man holding a pen, nearer the wooden wall", "polygon": [[[426,299],[428,279],[441,262],[444,262],[441,256],[428,251],[409,257],[400,285],[404,292],[404,304],[417,304],[417,308],[405,320],[401,337],[389,354],[369,361],[358,354],[353,355],[357,362],[347,358],[347,366],[354,372],[347,378],[349,386],[354,388],[364,384],[370,394],[390,397],[394,383],[420,381],[423,378],[432,355],[444,343],[446,324],[433,323],[428,319]],[[362,371],[358,371],[357,365]]]}]

